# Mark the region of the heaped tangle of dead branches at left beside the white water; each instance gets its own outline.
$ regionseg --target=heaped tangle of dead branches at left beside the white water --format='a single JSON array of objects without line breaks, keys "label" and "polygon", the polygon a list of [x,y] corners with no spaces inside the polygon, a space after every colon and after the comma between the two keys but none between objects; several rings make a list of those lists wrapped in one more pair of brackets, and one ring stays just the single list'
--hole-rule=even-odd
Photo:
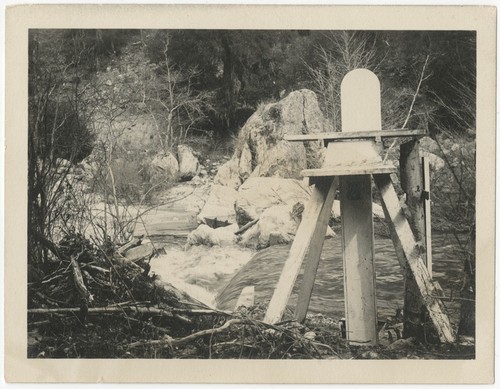
[{"label": "heaped tangle of dead branches at left beside the white water", "polygon": [[39,240],[53,255],[36,268],[29,266],[28,308],[81,307],[84,312],[124,301],[169,301],[148,275],[154,252],[145,252],[135,261],[126,257],[127,250],[141,244],[140,239],[128,243],[125,250],[109,242],[97,246],[80,234],[67,235],[57,245],[43,237]]}]

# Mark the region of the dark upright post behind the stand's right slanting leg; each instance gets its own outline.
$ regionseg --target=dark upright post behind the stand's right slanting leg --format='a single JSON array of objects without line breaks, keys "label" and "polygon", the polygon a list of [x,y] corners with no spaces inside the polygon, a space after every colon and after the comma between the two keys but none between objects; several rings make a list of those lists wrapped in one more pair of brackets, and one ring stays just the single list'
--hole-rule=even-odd
[{"label": "dark upright post behind the stand's right slanting leg", "polygon": [[[411,140],[401,145],[399,169],[401,187],[406,193],[406,205],[411,214],[410,227],[417,243],[423,247],[425,242],[425,213],[422,200],[424,180],[417,140]],[[422,307],[424,304],[410,269],[405,268],[404,277],[403,336],[405,338],[420,338],[423,336]]]}]

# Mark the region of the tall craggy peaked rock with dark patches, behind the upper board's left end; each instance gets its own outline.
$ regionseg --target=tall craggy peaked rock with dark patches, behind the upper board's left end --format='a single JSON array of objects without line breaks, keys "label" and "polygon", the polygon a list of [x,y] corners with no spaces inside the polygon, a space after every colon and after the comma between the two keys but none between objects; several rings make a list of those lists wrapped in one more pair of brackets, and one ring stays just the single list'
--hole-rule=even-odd
[{"label": "tall craggy peaked rock with dark patches, behind the upper board's left end", "polygon": [[288,142],[285,135],[328,131],[314,92],[302,89],[277,103],[260,107],[240,130],[230,161],[215,182],[237,187],[248,177],[300,178],[300,171],[319,167],[321,142]]}]

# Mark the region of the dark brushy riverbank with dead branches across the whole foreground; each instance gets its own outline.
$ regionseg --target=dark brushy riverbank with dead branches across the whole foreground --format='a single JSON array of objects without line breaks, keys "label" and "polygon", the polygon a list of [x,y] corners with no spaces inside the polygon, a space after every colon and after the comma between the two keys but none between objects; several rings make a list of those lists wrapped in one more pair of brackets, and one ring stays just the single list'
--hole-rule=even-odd
[{"label": "dark brushy riverbank with dead branches across the whole foreground", "polygon": [[[30,265],[31,358],[389,359],[437,355],[428,346],[396,335],[388,347],[349,347],[339,322],[322,315],[309,317],[305,324],[288,320],[270,325],[262,322],[265,304],[234,313],[196,306],[149,275],[154,248],[147,250],[140,239],[119,248],[111,244],[99,247],[78,234],[57,245],[43,238],[39,241],[53,256],[36,269]],[[138,258],[139,252],[144,256]],[[446,347],[452,347],[442,351],[447,358],[464,358],[464,352],[473,349]]]}]

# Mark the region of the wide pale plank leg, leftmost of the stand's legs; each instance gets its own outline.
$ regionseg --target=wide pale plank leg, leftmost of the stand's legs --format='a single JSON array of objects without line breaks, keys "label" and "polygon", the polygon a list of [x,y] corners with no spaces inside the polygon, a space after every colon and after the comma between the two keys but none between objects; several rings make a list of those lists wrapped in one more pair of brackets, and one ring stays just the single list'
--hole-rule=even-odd
[{"label": "wide pale plank leg, leftmost of the stand's legs", "polygon": [[[316,224],[324,210],[325,202],[330,193],[335,196],[335,185],[333,178],[320,180],[314,186],[311,198],[304,209],[302,221],[295,234],[295,239],[290,248],[288,259],[285,262],[283,271],[274,290],[273,297],[269,302],[265,323],[277,323],[281,320],[286,304],[292,293],[293,285],[300,271],[300,266],[309,249],[311,241],[316,231]],[[330,194],[331,195],[331,194]],[[331,211],[331,207],[330,207]]]}]

